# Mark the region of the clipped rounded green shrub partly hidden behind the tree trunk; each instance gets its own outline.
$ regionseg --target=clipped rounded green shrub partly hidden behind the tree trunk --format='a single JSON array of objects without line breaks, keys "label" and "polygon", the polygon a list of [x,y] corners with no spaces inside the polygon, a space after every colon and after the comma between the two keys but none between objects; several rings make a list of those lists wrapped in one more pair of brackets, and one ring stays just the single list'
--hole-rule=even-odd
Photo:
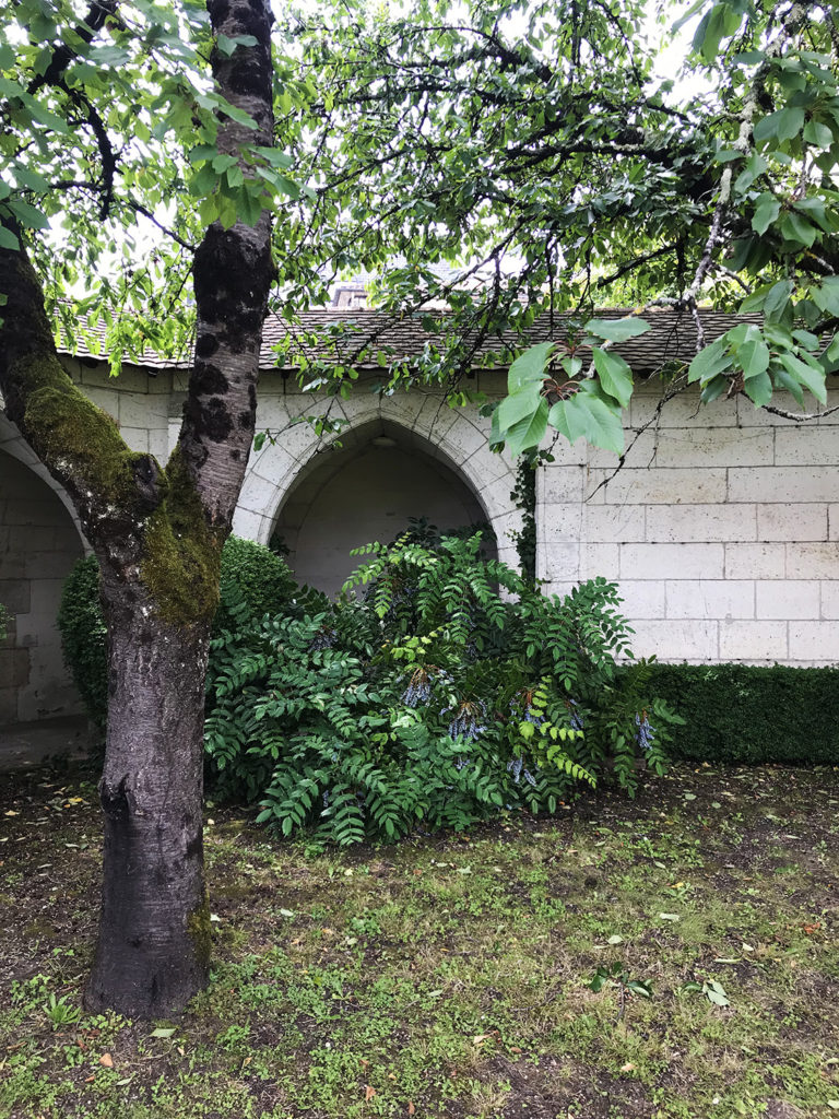
[{"label": "clipped rounded green shrub partly hidden behind the tree trunk", "polygon": [[[58,610],[64,659],[87,714],[100,731],[107,723],[107,650],[95,556],[79,560],[67,576]],[[230,536],[221,552],[221,601],[214,632],[234,624],[224,601],[237,589],[238,624],[276,613],[296,590],[281,556],[253,540]]]}]

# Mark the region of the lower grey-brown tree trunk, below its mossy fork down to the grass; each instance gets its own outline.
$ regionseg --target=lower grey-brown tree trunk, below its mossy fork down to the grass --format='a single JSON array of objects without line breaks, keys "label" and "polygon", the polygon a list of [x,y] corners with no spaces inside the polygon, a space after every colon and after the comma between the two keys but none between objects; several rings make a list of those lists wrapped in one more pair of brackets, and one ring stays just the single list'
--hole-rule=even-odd
[{"label": "lower grey-brown tree trunk, below its mossy fork down to the grass", "polygon": [[103,600],[110,615],[104,878],[85,1005],[153,1018],[183,1007],[207,978],[201,801],[209,627],[161,621],[142,586],[107,573]]}]

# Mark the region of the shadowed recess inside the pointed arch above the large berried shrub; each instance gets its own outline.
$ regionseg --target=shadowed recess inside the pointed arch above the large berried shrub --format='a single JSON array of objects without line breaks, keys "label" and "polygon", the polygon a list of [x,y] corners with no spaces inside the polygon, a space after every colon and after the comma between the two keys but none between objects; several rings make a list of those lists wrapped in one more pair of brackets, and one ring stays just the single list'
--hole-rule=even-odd
[{"label": "shadowed recess inside the pointed arch above the large berried shrub", "polygon": [[336,594],[361,562],[350,551],[390,543],[412,518],[441,532],[481,527],[484,553],[497,555],[469,485],[439,459],[381,433],[326,452],[293,487],[272,540],[286,552],[298,582]]}]

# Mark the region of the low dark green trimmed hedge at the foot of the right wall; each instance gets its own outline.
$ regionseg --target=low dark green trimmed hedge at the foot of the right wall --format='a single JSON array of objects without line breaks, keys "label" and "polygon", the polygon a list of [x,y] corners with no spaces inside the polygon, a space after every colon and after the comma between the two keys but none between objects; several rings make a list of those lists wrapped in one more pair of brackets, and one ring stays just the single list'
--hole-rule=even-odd
[{"label": "low dark green trimmed hedge at the foot of the right wall", "polygon": [[838,668],[656,664],[649,688],[685,720],[673,758],[839,765]]}]

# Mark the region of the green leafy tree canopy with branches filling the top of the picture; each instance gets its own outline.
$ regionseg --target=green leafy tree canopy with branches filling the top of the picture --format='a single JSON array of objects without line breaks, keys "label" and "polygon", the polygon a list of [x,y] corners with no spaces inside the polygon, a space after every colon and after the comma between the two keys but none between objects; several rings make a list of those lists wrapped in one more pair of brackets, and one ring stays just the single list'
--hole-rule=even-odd
[{"label": "green leafy tree canopy with branches filling the top of the picture", "polygon": [[[198,231],[253,220],[271,197],[286,319],[366,271],[383,308],[428,329],[417,361],[356,331],[348,357],[313,366],[299,330],[279,360],[346,394],[375,358],[384,388],[443,382],[461,403],[461,375],[503,331],[492,360],[524,355],[493,439],[513,452],[549,429],[620,452],[632,379],[614,345],[659,307],[696,327],[675,387],[823,405],[839,366],[836,12],[670,6],[660,30],[695,27],[679,82],[657,76],[645,19],[633,0],[284,10],[277,148],[243,168],[216,147],[230,110],[207,79],[196,0],[21,0],[0,40],[0,236],[30,242],[69,335],[62,300],[84,284],[81,309],[105,308],[116,360],[145,340],[175,354]],[[158,227],[151,251],[139,217]],[[708,302],[755,320],[706,346]],[[633,313],[597,318],[609,303]],[[528,349],[540,316],[553,345]]]}]

